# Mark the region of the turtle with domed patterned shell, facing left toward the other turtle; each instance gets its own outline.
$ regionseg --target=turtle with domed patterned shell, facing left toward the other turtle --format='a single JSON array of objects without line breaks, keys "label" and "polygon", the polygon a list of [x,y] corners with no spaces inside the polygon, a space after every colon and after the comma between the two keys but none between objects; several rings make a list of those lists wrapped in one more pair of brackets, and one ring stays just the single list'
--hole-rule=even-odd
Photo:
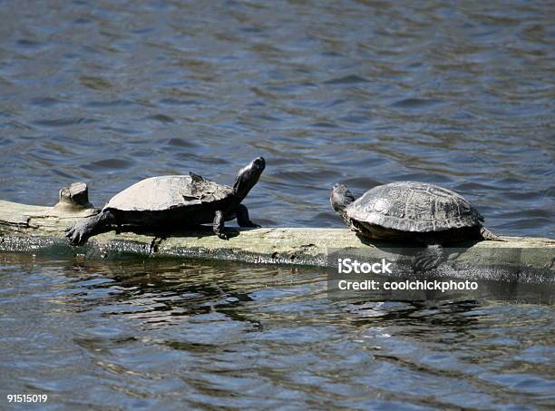
[{"label": "turtle with domed patterned shell, facing left toward the other turtle", "polygon": [[330,202],[349,228],[363,238],[424,244],[426,250],[415,261],[417,269],[436,265],[443,244],[501,240],[482,225],[482,215],[469,201],[434,184],[395,181],[376,186],[355,200],[345,184],[336,183]]}]

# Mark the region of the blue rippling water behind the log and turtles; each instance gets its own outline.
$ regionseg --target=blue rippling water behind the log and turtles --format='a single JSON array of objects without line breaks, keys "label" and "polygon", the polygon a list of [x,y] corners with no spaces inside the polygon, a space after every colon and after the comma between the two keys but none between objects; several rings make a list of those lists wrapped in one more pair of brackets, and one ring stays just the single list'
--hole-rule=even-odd
[{"label": "blue rippling water behind the log and turtles", "polygon": [[333,182],[420,180],[550,236],[555,7],[482,3],[4,2],[0,197],[102,205],[264,155],[265,225],[341,227]]}]

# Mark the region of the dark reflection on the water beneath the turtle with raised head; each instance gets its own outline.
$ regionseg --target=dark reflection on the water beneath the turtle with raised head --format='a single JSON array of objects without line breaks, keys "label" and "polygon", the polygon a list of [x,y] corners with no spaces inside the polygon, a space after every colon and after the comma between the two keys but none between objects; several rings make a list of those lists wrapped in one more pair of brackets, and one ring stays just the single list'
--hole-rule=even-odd
[{"label": "dark reflection on the water beneath the turtle with raised head", "polygon": [[[107,276],[106,279],[110,279],[110,287],[119,292],[105,299],[95,300],[94,304],[121,306],[121,310],[112,313],[114,316],[130,315],[132,318],[144,319],[151,325],[164,325],[167,321],[171,323],[172,318],[179,322],[180,316],[190,317],[215,312],[229,317],[231,321],[248,321],[248,318],[236,313],[234,308],[251,301],[252,298],[249,298],[248,293],[240,292],[230,284],[214,278],[227,265],[220,264],[208,268],[196,266],[194,262],[192,265],[152,262],[141,263],[138,267],[132,261],[127,261],[126,264],[130,267],[113,269],[110,265],[102,266],[102,274]],[[98,275],[99,267],[94,265],[68,268],[67,274],[73,275],[76,268],[79,269],[80,279],[83,279],[83,275]],[[192,278],[188,274],[192,274]],[[86,281],[85,279],[84,282]],[[104,287],[105,284],[101,283],[92,285],[90,289]],[[124,307],[130,309],[126,310]],[[257,326],[254,323],[252,325]]]}]

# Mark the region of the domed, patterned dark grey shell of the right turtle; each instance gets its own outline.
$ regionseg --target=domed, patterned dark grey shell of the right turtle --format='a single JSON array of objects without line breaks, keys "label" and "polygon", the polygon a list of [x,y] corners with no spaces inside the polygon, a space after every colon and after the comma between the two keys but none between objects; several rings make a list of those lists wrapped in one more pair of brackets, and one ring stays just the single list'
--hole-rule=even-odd
[{"label": "domed, patterned dark grey shell of the right turtle", "polygon": [[469,201],[433,184],[398,181],[375,187],[346,207],[346,216],[386,229],[429,232],[481,226]]}]

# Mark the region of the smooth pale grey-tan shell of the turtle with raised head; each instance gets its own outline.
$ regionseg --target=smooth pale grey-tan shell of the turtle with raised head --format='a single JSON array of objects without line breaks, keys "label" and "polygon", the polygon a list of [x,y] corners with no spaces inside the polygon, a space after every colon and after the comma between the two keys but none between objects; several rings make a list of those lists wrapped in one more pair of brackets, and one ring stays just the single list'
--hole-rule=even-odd
[{"label": "smooth pale grey-tan shell of the turtle with raised head", "polygon": [[200,175],[168,175],[139,181],[117,193],[104,210],[163,211],[221,201],[233,189]]}]

